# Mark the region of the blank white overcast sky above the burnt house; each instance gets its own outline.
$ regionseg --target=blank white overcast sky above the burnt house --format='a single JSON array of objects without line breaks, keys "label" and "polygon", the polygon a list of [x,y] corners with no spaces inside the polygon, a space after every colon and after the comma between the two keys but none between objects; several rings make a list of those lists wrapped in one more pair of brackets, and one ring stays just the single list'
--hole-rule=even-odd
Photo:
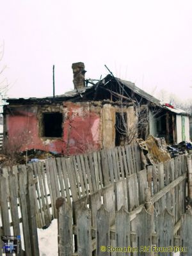
[{"label": "blank white overcast sky above the burnt house", "polygon": [[[108,74],[148,92],[192,93],[191,0],[1,1],[0,42],[9,97],[56,95],[73,88],[73,62],[86,78]],[[153,94],[153,93],[152,93]]]}]

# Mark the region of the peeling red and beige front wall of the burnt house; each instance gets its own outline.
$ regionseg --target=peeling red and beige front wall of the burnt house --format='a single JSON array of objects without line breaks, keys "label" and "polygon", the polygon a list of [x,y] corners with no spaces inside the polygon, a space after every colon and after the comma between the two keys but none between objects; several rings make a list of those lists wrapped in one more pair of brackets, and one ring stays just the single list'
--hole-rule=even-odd
[{"label": "peeling red and beige front wall of the burnt house", "polygon": [[127,140],[136,121],[130,106],[102,101],[8,105],[4,108],[4,145],[17,151],[36,148],[65,155],[115,147],[116,113],[126,113]]}]

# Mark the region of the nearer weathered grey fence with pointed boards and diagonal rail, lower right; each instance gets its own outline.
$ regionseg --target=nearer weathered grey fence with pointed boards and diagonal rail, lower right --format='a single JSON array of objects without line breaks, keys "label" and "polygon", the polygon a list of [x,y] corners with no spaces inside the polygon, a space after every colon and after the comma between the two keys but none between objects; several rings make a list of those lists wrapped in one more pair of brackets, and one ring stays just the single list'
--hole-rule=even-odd
[{"label": "nearer weathered grey fence with pointed boards and diagonal rail, lower right", "polygon": [[[181,225],[186,212],[184,156],[132,173],[75,200],[72,207],[65,198],[58,198],[56,205],[60,256],[116,255],[101,252],[100,246],[192,246],[192,240],[184,241],[188,223],[182,221]],[[186,216],[184,220],[190,222],[192,218]]]}]

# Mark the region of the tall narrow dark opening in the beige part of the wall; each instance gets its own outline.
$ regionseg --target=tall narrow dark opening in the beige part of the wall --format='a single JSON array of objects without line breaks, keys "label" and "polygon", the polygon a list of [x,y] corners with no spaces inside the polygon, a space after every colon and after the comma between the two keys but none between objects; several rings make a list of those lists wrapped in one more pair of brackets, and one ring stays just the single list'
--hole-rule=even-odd
[{"label": "tall narrow dark opening in the beige part of the wall", "polygon": [[115,146],[124,146],[127,137],[127,113],[116,113],[115,120]]}]

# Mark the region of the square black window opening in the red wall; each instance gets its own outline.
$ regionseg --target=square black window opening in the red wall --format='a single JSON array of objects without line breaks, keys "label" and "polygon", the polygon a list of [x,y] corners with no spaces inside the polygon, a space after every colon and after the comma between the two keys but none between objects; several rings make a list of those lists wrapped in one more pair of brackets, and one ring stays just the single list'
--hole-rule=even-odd
[{"label": "square black window opening in the red wall", "polygon": [[63,116],[61,113],[43,113],[44,137],[60,138],[62,136]]}]

